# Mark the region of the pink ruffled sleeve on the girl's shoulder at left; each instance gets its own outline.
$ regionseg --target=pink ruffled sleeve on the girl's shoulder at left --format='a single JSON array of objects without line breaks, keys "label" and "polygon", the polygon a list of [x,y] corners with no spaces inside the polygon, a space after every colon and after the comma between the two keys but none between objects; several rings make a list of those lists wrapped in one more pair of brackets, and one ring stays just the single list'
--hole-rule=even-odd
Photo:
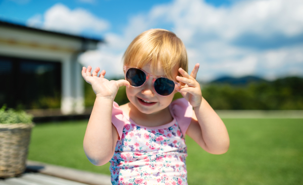
[{"label": "pink ruffled sleeve on the girl's shoulder at left", "polygon": [[118,103],[114,102],[113,104],[113,111],[112,111],[112,123],[116,127],[119,138],[118,140],[121,140],[122,138],[122,132],[125,125],[125,118],[123,116],[123,111],[121,108],[119,108]]}]

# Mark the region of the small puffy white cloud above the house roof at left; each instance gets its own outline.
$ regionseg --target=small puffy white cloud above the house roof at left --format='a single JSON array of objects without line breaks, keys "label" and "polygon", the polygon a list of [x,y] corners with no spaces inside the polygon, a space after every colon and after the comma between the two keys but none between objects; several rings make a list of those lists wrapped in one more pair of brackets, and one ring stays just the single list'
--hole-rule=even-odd
[{"label": "small puffy white cloud above the house roof at left", "polygon": [[41,20],[37,15],[28,20],[28,26],[38,26],[47,30],[61,31],[72,34],[81,34],[82,31],[90,29],[100,35],[107,30],[110,24],[84,9],[70,10],[63,4],[56,4],[48,9],[43,15],[42,26],[34,24]]}]

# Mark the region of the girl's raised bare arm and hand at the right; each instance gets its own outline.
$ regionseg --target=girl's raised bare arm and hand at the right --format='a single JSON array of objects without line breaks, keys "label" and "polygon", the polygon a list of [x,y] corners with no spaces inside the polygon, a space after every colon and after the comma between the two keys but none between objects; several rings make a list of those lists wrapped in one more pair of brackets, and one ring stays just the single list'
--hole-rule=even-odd
[{"label": "girl's raised bare arm and hand at the right", "polygon": [[201,95],[200,85],[195,80],[198,68],[199,65],[196,64],[190,75],[180,68],[179,72],[183,77],[177,77],[177,80],[185,84],[178,91],[194,109],[186,134],[207,152],[223,154],[229,148],[227,129],[218,114]]}]

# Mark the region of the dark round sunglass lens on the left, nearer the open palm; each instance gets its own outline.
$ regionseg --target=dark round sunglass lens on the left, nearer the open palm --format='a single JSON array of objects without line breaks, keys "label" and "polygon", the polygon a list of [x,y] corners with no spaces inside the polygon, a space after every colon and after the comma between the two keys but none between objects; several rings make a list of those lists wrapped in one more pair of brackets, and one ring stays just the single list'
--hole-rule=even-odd
[{"label": "dark round sunglass lens on the left, nearer the open palm", "polygon": [[144,84],[146,75],[143,71],[135,68],[131,68],[126,72],[126,80],[131,86],[139,87]]}]

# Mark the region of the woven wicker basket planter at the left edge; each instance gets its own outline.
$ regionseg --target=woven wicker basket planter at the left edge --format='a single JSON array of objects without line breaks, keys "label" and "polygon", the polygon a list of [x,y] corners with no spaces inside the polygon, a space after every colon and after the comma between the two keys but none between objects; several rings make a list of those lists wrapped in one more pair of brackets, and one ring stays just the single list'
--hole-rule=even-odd
[{"label": "woven wicker basket planter at the left edge", "polygon": [[22,174],[34,124],[0,124],[0,178]]}]

